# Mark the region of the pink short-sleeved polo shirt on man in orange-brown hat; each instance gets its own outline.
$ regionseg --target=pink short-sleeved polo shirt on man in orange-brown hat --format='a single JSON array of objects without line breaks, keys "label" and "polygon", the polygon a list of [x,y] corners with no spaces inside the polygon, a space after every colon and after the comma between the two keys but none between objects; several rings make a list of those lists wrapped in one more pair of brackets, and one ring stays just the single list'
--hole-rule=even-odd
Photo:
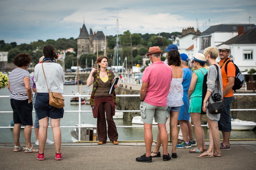
[{"label": "pink short-sleeved polo shirt on man in orange-brown hat", "polygon": [[144,101],[153,106],[167,106],[167,95],[172,81],[172,68],[162,61],[148,66],[141,81],[148,83]]}]

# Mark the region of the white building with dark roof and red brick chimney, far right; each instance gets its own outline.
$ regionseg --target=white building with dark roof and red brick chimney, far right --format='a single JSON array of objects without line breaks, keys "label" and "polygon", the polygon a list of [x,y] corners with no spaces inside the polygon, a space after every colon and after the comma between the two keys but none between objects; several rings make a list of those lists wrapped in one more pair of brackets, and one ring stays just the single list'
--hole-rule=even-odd
[{"label": "white building with dark roof and red brick chimney, far right", "polygon": [[231,59],[241,72],[256,69],[256,27],[244,32],[244,27],[239,26],[238,35],[222,44],[231,48]]}]

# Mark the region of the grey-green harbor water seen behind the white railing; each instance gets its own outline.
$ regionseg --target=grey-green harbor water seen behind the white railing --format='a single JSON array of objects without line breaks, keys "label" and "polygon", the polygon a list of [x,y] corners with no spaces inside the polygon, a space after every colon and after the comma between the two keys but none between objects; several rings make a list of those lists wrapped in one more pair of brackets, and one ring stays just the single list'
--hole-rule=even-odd
[{"label": "grey-green harbor water seen behind the white railing", "polygon": [[[78,87],[76,85],[65,85],[64,86],[64,95],[73,95],[77,92],[80,92],[80,87],[78,90]],[[87,95],[88,92],[91,93],[92,86],[87,87],[86,85],[82,86],[82,95]],[[10,92],[8,91],[7,87],[0,90],[0,95],[10,95]],[[65,97],[65,107],[64,110],[78,110],[78,105],[70,105],[70,98],[71,97]],[[138,103],[139,105],[140,103]],[[91,110],[90,105],[81,105],[81,110]],[[12,111],[11,105],[10,105],[10,99],[9,98],[0,98],[0,111]],[[138,112],[138,114],[140,114]],[[12,113],[0,113],[0,126],[9,126],[10,122],[12,120]],[[35,121],[35,113],[33,113],[33,121]],[[115,119],[114,120],[117,126],[131,126],[136,125],[132,124],[132,122],[125,121],[124,119]],[[50,121],[49,121],[50,123]],[[85,124],[97,124],[97,119],[93,118],[92,112],[89,113],[81,113],[81,123]],[[60,121],[61,126],[76,126],[78,124],[78,113],[77,112],[68,112],[64,113],[64,117]],[[49,125],[50,126],[50,125]],[[205,132],[205,139],[209,139],[209,130],[207,127],[203,127]],[[61,128],[61,135],[62,135],[62,142],[73,142],[71,131],[74,130],[74,128]],[[136,127],[136,128],[117,128],[118,131],[118,140],[119,141],[138,141],[138,140],[144,140],[144,129],[143,127]],[[153,139],[156,140],[157,136],[157,127],[152,128],[153,131]],[[194,134],[195,136],[195,134]],[[52,129],[48,128],[47,132],[47,138],[53,140],[52,137]],[[220,132],[220,138],[222,139],[222,134]],[[255,139],[256,138],[256,130],[244,130],[244,131],[232,131],[230,139]],[[31,142],[34,143],[36,140],[34,129],[32,129],[31,134]],[[109,140],[109,139],[108,139]],[[13,142],[13,133],[12,129],[5,129],[0,128],[0,143],[9,143]],[[23,129],[21,130],[20,135],[20,142],[25,142],[24,136],[23,136]]]}]

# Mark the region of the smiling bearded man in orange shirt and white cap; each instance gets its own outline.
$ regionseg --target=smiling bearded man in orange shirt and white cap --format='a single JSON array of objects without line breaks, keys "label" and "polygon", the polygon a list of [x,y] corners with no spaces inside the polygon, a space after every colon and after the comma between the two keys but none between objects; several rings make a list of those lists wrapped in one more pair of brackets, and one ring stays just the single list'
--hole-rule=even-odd
[{"label": "smiling bearded man in orange shirt and white cap", "polygon": [[221,45],[219,48],[220,55],[220,70],[223,83],[223,112],[220,114],[220,120],[218,121],[219,130],[222,132],[223,142],[220,143],[220,150],[230,150],[229,137],[231,133],[231,117],[230,107],[234,100],[234,93],[232,87],[234,86],[236,68],[233,62],[229,62],[227,66],[227,73],[225,71],[225,65],[230,60],[228,57],[230,54],[230,47],[228,45]]}]

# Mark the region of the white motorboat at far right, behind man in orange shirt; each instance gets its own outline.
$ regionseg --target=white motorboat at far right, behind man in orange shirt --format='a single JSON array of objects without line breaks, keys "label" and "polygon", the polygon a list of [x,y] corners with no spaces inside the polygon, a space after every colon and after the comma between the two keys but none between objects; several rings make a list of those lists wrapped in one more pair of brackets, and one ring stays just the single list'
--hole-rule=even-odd
[{"label": "white motorboat at far right, behind man in orange shirt", "polygon": [[[207,123],[208,125],[208,123]],[[256,122],[242,121],[240,119],[231,118],[231,129],[232,130],[252,130],[255,128]],[[209,128],[207,126],[207,128]]]}]

